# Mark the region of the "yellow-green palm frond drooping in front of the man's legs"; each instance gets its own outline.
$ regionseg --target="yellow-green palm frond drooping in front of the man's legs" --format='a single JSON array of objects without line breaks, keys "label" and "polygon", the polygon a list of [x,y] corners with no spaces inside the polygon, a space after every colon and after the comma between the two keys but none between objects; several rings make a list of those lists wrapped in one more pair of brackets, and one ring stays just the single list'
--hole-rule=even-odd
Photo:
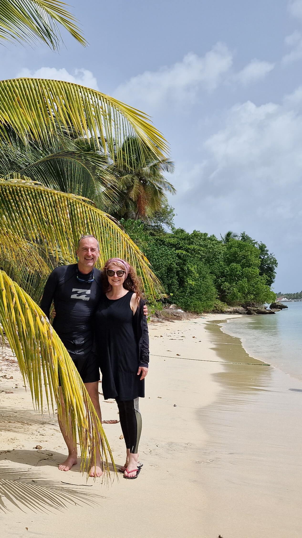
[{"label": "yellow-green palm frond drooping in front of the man's legs", "polygon": [[91,446],[98,445],[108,474],[108,453],[114,465],[111,450],[73,361],[38,305],[4,271],[0,271],[2,338],[3,332],[15,352],[24,382],[26,384],[27,381],[30,387],[36,409],[42,410],[44,405],[43,385],[48,410],[51,408],[54,410],[55,404],[58,415],[62,417],[58,373],[60,374],[66,420],[68,423],[68,417],[71,418],[73,437],[76,440],[78,436],[82,468],[88,451],[88,464],[93,463]]}]

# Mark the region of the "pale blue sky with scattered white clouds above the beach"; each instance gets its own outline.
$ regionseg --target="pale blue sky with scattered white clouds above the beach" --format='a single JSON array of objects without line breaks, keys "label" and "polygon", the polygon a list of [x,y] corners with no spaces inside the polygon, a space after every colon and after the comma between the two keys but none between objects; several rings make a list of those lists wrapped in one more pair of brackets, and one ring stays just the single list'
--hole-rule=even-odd
[{"label": "pale blue sky with scattered white clouds above the beach", "polygon": [[78,82],[147,112],[169,141],[176,226],[245,231],[302,289],[302,0],[73,0],[89,47],[2,47],[2,79]]}]

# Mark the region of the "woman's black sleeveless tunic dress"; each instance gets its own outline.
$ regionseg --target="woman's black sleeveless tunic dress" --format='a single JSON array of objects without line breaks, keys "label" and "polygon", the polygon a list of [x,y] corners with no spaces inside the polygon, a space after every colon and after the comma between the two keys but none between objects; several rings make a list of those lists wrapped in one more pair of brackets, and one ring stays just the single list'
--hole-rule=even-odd
[{"label": "woman's black sleeveless tunic dress", "polygon": [[138,376],[138,368],[148,363],[142,364],[140,360],[141,345],[136,330],[143,303],[141,301],[133,316],[132,295],[133,292],[128,292],[120,299],[103,295],[95,314],[95,345],[105,400],[134,400],[145,396],[145,383]]}]

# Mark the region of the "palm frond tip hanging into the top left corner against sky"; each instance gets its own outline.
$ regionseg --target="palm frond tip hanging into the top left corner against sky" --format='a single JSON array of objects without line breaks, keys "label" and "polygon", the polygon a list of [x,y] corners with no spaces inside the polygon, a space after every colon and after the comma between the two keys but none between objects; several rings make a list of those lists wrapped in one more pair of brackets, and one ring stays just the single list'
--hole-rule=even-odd
[{"label": "palm frond tip hanging into the top left corner against sky", "polygon": [[30,45],[42,41],[56,50],[61,41],[59,24],[86,46],[75,17],[64,6],[58,0],[1,0],[0,39]]}]

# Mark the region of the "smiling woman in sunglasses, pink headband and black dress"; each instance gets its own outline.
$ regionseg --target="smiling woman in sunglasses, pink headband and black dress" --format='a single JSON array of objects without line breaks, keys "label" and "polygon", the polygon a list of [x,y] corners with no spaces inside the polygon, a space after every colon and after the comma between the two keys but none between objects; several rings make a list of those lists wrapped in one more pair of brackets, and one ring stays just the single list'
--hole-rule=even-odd
[{"label": "smiling woman in sunglasses, pink headband and black dress", "polygon": [[141,434],[139,398],[145,397],[149,365],[149,335],[144,302],[134,268],[111,258],[103,270],[103,291],[95,315],[96,351],[100,358],[104,399],[115,398],[127,456],[124,478],[138,477]]}]

